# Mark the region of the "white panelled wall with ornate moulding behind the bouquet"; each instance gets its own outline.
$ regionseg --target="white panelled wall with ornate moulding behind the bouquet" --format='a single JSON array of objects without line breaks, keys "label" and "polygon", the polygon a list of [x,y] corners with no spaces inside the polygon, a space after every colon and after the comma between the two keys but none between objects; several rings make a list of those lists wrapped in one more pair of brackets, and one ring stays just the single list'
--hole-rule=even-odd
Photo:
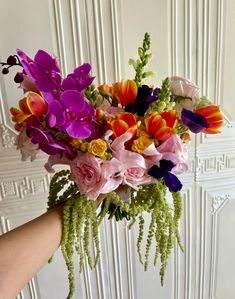
[{"label": "white panelled wall with ornate moulding behind the bouquet", "polygon": [[[137,228],[129,232],[125,223],[106,221],[100,232],[101,263],[77,274],[75,298],[234,298],[234,20],[233,0],[0,0],[0,60],[17,47],[30,55],[43,48],[59,57],[64,74],[86,61],[97,83],[111,83],[133,77],[128,59],[136,57],[148,31],[155,82],[171,74],[189,77],[227,118],[222,134],[192,141],[191,169],[182,178],[185,252],[175,248],[165,286],[160,287],[158,269],[145,273],[138,262]],[[12,77],[0,75],[0,233],[46,208],[45,156],[23,163],[14,147],[8,109],[20,97]],[[45,265],[18,298],[63,299],[67,288],[58,251],[52,265]]]}]

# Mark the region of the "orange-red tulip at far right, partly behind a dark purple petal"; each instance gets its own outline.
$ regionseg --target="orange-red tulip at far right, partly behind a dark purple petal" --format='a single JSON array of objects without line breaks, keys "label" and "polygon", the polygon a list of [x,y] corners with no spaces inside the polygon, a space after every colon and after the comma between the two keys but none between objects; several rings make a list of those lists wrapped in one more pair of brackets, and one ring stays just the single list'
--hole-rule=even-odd
[{"label": "orange-red tulip at far right, partly behind a dark purple petal", "polygon": [[202,132],[206,134],[220,133],[219,128],[223,125],[223,115],[217,105],[208,105],[194,110],[194,112],[201,114],[207,120],[209,127]]}]

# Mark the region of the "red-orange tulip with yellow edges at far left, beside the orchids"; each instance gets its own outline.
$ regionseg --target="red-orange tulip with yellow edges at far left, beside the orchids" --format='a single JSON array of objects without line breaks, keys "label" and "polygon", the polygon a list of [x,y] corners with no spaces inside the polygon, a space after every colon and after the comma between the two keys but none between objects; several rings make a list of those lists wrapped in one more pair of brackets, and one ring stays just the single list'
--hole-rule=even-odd
[{"label": "red-orange tulip with yellow edges at far left, beside the orchids", "polygon": [[27,97],[19,101],[19,108],[12,107],[10,109],[12,121],[16,123],[16,130],[19,130],[32,115],[41,118],[47,111],[47,104],[39,94],[30,91]]}]

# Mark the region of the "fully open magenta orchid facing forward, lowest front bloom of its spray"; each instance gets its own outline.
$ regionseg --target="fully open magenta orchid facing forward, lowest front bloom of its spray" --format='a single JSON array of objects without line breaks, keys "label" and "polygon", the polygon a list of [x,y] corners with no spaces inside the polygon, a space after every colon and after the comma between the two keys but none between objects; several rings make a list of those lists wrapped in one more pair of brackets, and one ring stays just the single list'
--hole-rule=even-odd
[{"label": "fully open magenta orchid facing forward, lowest front bloom of its spray", "polygon": [[64,91],[59,101],[48,105],[49,127],[65,130],[69,136],[86,139],[94,132],[94,108],[76,90]]}]

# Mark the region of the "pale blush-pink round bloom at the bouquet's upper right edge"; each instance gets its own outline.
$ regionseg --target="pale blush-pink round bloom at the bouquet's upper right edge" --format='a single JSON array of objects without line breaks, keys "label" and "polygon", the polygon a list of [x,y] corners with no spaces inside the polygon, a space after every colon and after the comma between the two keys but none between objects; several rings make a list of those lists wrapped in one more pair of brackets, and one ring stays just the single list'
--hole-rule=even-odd
[{"label": "pale blush-pink round bloom at the bouquet's upper right edge", "polygon": [[170,78],[170,89],[174,95],[186,98],[198,98],[200,92],[194,82],[179,76]]}]

